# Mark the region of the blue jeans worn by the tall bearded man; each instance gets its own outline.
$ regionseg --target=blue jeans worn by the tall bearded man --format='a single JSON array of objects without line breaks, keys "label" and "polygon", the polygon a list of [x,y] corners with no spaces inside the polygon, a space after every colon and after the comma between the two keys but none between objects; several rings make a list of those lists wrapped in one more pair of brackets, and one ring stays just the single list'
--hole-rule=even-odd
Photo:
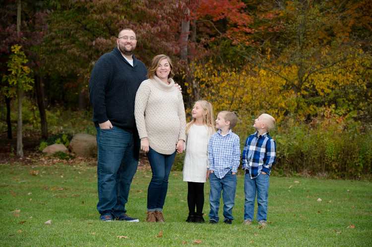
[{"label": "blue jeans worn by the tall bearded man", "polygon": [[98,145],[98,204],[101,215],[122,216],[128,201],[130,184],[137,171],[140,140],[114,126],[97,128]]}]

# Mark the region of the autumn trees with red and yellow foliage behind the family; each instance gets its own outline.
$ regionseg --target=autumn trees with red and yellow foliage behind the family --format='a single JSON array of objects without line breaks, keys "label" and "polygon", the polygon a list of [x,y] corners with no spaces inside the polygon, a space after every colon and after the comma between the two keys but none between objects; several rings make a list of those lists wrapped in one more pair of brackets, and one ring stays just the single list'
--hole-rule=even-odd
[{"label": "autumn trees with red and yellow foliage behind the family", "polygon": [[[91,110],[94,63],[129,27],[138,59],[174,60],[187,108],[203,98],[237,112],[241,139],[255,116],[275,116],[279,170],[371,174],[369,0],[21,0],[20,37],[17,0],[1,6],[1,77],[20,45],[34,79],[25,99],[44,139],[48,110]],[[14,85],[3,79],[1,88],[10,126]]]}]

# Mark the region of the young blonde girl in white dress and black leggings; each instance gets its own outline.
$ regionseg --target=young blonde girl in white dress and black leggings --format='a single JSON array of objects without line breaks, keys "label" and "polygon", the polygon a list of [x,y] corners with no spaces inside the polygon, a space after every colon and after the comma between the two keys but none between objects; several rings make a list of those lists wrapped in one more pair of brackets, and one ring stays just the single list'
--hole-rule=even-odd
[{"label": "young blonde girl in white dress and black leggings", "polygon": [[[214,130],[213,107],[198,100],[192,107],[192,120],[186,125],[184,181],[187,181],[188,217],[186,222],[203,223],[204,183],[209,178],[208,143]],[[196,206],[196,212],[195,212]]]}]

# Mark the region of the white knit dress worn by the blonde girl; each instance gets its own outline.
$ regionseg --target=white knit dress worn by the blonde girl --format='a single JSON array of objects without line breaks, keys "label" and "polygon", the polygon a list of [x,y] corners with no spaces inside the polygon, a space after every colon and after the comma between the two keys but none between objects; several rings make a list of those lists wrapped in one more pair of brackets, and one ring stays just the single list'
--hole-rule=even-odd
[{"label": "white knit dress worn by the blonde girl", "polygon": [[184,161],[184,181],[205,183],[208,163],[208,143],[211,131],[208,126],[193,124],[186,137],[186,155]]}]

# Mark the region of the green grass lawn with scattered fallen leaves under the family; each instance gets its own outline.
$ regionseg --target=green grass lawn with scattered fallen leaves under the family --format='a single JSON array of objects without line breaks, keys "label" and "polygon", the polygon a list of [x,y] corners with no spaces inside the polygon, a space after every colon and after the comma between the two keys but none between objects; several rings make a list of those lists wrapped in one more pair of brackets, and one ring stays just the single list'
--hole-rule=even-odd
[{"label": "green grass lawn with scattered fallen leaves under the family", "polygon": [[[139,223],[101,222],[96,210],[95,166],[1,165],[1,246],[181,246],[183,242],[192,245],[194,240],[202,241],[202,246],[372,246],[372,183],[368,181],[272,176],[271,223],[259,229],[256,221],[242,225],[242,174],[238,174],[232,225],[221,219],[217,225],[185,222],[187,184],[182,172],[171,172],[164,206],[166,222],[145,222],[150,179],[151,171],[137,171],[126,205],[128,214],[139,218]],[[209,182],[205,184],[206,214],[208,195]],[[209,220],[207,215],[204,218]],[[52,224],[44,224],[48,220]],[[163,236],[155,238],[160,231]]]}]

